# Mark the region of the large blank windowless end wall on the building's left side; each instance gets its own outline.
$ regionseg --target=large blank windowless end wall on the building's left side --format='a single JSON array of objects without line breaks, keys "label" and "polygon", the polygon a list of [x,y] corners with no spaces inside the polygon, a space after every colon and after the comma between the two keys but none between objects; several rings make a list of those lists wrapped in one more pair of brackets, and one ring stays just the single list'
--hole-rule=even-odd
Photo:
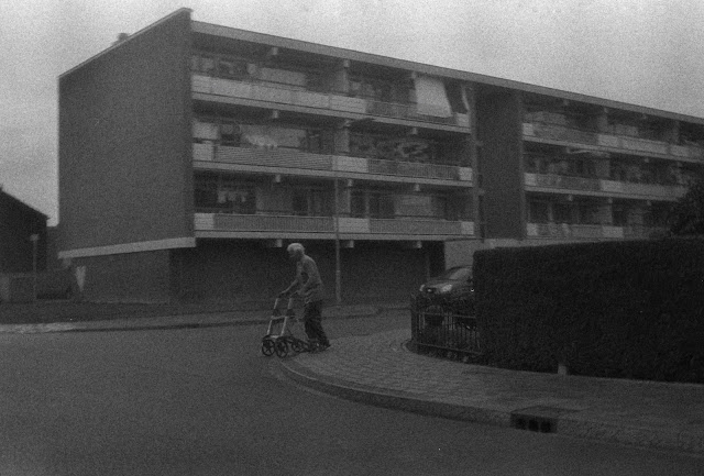
[{"label": "large blank windowless end wall on the building's left side", "polygon": [[59,78],[61,251],[189,237],[186,10]]}]

